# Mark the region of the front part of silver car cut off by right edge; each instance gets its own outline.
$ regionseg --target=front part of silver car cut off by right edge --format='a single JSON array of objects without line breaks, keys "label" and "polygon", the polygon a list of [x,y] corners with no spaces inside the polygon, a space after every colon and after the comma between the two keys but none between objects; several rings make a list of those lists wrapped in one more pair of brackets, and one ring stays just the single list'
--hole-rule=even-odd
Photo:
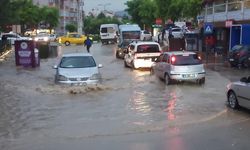
[{"label": "front part of silver car cut off by right edge", "polygon": [[250,76],[227,85],[227,102],[232,109],[239,106],[250,108]]}]

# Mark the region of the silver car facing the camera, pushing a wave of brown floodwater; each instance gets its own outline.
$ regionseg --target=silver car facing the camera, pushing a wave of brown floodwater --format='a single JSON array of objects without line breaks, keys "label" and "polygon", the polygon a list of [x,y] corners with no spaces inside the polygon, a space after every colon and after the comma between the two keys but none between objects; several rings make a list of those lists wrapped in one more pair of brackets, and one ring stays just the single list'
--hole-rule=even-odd
[{"label": "silver car facing the camera, pushing a wave of brown floodwater", "polygon": [[64,54],[56,69],[55,82],[69,85],[90,85],[101,82],[99,68],[89,53]]}]

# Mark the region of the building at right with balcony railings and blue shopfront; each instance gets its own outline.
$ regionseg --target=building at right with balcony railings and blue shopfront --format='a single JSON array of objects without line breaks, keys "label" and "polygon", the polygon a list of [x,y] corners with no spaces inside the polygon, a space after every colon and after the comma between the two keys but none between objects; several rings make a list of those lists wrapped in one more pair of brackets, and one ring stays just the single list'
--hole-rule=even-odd
[{"label": "building at right with balcony railings and blue shopfront", "polygon": [[245,30],[250,29],[250,0],[203,0],[203,6],[199,17],[213,25],[216,46],[224,54],[236,44],[250,44],[248,29]]}]

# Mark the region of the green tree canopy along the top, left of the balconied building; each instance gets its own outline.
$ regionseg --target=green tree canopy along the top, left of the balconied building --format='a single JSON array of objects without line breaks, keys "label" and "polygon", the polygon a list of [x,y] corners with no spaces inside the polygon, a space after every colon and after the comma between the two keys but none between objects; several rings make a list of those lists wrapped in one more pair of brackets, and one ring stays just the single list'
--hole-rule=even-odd
[{"label": "green tree canopy along the top, left of the balconied building", "polygon": [[196,19],[202,0],[130,0],[125,4],[132,21],[151,26],[156,18],[162,20]]}]

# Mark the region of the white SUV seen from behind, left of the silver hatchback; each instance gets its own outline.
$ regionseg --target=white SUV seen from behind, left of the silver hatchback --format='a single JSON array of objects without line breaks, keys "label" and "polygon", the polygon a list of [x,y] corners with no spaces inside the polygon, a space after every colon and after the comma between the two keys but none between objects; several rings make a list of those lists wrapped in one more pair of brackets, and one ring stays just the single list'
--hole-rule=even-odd
[{"label": "white SUV seen from behind, left of the silver hatchback", "polygon": [[151,68],[160,54],[161,47],[157,42],[132,42],[125,52],[124,66],[133,69]]}]

